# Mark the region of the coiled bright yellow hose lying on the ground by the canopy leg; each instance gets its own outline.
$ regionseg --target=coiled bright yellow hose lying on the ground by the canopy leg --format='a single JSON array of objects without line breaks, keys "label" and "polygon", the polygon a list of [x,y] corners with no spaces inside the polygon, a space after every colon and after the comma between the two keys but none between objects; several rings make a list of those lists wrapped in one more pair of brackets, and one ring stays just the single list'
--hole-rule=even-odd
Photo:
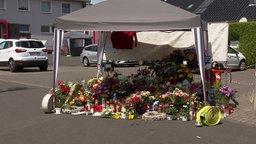
[{"label": "coiled bright yellow hose lying on the ground by the canopy leg", "polygon": [[[221,111],[216,106],[205,106],[196,114],[197,124],[207,126],[217,125],[221,120]],[[197,125],[200,126],[200,125]]]}]

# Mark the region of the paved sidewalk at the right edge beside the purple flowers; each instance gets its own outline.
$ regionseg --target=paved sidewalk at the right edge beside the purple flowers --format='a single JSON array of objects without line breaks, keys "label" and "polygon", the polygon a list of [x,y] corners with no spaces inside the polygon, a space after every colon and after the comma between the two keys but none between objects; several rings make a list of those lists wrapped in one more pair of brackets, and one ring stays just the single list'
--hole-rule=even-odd
[{"label": "paved sidewalk at the right edge beside the purple flowers", "polygon": [[255,69],[232,72],[230,86],[237,91],[239,106],[227,120],[256,126],[256,112],[254,110],[255,97]]}]

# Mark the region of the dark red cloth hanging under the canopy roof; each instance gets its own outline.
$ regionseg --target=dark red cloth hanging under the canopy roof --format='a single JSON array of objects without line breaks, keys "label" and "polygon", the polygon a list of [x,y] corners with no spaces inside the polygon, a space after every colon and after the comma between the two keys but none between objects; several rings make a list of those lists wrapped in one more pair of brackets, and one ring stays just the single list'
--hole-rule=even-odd
[{"label": "dark red cloth hanging under the canopy roof", "polygon": [[135,46],[137,46],[136,32],[112,32],[111,41],[113,48],[116,49],[132,49],[133,37],[135,38]]}]

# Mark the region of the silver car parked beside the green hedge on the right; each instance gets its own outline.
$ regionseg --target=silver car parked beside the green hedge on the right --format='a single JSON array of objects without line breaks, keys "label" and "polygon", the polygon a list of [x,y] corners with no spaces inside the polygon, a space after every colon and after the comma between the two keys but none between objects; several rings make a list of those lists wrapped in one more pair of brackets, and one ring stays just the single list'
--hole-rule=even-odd
[{"label": "silver car parked beside the green hedge on the right", "polygon": [[228,60],[225,66],[233,69],[245,70],[246,58],[238,50],[228,47]]}]

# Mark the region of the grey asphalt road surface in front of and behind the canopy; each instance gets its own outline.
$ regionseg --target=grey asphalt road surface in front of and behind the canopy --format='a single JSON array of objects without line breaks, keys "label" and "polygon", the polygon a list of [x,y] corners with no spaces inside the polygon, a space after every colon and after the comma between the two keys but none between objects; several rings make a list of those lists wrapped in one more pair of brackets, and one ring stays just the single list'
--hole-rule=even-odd
[{"label": "grey asphalt road surface in front of and behind the canopy", "polygon": [[[120,68],[131,73],[133,68]],[[94,77],[96,68],[82,67],[77,58],[66,60],[58,79]],[[0,68],[0,144],[254,144],[256,127],[222,120],[213,127],[195,121],[114,120],[86,115],[45,114],[43,96],[52,88],[53,69],[10,73]]]}]

